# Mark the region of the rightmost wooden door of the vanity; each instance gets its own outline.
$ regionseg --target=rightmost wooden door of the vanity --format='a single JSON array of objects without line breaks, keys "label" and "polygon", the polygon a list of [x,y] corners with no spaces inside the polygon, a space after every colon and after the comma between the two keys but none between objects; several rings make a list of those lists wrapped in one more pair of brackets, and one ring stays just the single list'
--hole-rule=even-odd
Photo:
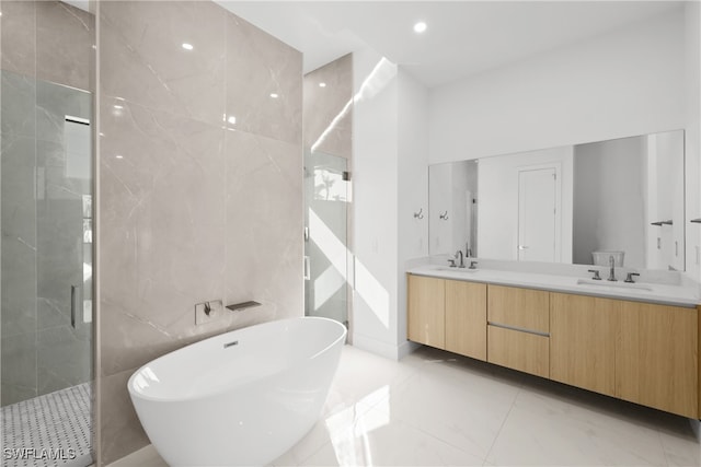
[{"label": "rightmost wooden door of the vanity", "polygon": [[616,396],[699,418],[698,312],[621,302]]}]

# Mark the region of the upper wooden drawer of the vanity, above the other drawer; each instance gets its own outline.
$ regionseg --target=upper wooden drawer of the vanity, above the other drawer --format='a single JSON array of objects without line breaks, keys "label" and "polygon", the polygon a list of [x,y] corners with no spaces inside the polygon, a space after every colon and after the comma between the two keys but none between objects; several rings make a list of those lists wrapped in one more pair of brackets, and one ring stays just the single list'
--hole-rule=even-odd
[{"label": "upper wooden drawer of the vanity, above the other drawer", "polygon": [[487,322],[522,330],[550,332],[550,293],[515,287],[487,287]]}]

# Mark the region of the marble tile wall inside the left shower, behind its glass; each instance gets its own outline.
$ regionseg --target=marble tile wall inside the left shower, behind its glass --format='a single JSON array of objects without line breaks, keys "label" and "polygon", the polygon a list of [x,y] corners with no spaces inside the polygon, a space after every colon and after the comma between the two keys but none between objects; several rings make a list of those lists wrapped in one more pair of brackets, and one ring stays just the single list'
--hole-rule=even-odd
[{"label": "marble tile wall inside the left shower, behind its glass", "polygon": [[[57,1],[2,1],[2,405],[92,377],[91,325],[70,327],[82,282],[81,195],[65,176],[64,117],[90,118],[94,19]],[[70,86],[70,87],[68,87]],[[67,229],[67,227],[72,227]]]}]

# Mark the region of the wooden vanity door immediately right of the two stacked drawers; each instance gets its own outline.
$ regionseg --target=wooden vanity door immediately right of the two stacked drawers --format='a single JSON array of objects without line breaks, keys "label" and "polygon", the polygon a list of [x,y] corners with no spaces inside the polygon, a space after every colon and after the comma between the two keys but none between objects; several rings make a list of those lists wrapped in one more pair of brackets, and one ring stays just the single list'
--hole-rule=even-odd
[{"label": "wooden vanity door immediately right of the two stacked drawers", "polygon": [[620,301],[550,294],[550,378],[613,396]]}]

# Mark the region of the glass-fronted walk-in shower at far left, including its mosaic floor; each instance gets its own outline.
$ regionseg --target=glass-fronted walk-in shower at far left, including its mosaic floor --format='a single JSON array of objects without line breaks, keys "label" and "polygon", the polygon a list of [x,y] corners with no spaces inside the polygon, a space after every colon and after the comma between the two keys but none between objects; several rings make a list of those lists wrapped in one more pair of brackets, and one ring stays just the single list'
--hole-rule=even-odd
[{"label": "glass-fronted walk-in shower at far left, including its mosaic floor", "polygon": [[[60,17],[80,24],[76,17],[88,13],[56,1],[0,5],[2,466],[87,466],[93,462],[93,96],[55,82],[61,80],[41,60],[61,57],[41,51],[57,46],[42,42],[51,35],[71,37]],[[5,40],[19,31],[22,43]],[[34,60],[22,62],[26,57]],[[76,72],[72,63],[55,65]]]}]

